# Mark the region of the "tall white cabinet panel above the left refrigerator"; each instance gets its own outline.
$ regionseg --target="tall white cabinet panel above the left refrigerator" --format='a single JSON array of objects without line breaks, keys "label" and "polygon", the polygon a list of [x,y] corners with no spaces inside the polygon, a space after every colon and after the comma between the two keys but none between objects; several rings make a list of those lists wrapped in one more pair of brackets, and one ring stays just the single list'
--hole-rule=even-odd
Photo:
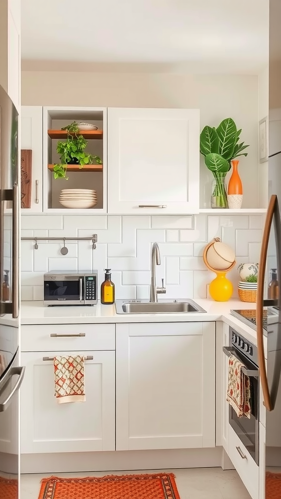
[{"label": "tall white cabinet panel above the left refrigerator", "polygon": [[20,0],[0,1],[0,85],[20,108]]}]

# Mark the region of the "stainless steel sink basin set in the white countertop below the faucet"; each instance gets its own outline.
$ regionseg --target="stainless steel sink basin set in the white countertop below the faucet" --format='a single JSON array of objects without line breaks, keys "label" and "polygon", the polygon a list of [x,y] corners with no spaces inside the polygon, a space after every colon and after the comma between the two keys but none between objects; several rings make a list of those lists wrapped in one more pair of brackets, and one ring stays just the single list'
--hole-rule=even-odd
[{"label": "stainless steel sink basin set in the white countertop below the faucet", "polygon": [[141,314],[141,313],[190,313],[206,312],[193,300],[161,300],[150,303],[148,300],[116,300],[116,313]]}]

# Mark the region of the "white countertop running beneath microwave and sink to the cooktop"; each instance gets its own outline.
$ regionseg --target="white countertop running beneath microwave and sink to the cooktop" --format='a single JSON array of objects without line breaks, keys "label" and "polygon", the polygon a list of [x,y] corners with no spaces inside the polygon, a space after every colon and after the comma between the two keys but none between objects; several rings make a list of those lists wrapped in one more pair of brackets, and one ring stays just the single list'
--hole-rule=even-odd
[{"label": "white countertop running beneath microwave and sink to the cooktop", "polygon": [[21,324],[97,324],[116,322],[196,322],[223,320],[238,332],[246,333],[248,339],[255,338],[255,331],[230,315],[230,309],[255,309],[255,303],[238,299],[213,301],[194,299],[206,313],[156,313],[156,314],[116,314],[114,305],[93,306],[54,306],[43,305],[42,301],[21,302]]}]

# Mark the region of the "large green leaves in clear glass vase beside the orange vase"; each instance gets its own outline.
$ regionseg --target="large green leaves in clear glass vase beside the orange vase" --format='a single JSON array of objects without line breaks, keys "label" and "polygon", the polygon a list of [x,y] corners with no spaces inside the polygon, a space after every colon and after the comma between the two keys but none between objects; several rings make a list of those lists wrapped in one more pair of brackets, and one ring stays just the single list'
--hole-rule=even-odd
[{"label": "large green leaves in clear glass vase beside the orange vase", "polygon": [[231,161],[238,156],[247,156],[242,152],[248,147],[239,142],[241,129],[232,118],[225,118],[217,128],[205,126],[200,134],[200,153],[204,156],[206,167],[212,172],[214,182],[212,199],[214,208],[227,208],[225,176],[230,170]]}]

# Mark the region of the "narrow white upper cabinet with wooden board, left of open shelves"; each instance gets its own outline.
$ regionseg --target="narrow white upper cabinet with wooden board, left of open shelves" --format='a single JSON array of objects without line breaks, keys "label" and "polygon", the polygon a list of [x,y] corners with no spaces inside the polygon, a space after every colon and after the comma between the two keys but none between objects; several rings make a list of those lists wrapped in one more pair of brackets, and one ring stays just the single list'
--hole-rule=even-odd
[{"label": "narrow white upper cabinet with wooden board, left of open shelves", "polygon": [[21,106],[22,214],[43,211],[43,136],[41,106]]}]

